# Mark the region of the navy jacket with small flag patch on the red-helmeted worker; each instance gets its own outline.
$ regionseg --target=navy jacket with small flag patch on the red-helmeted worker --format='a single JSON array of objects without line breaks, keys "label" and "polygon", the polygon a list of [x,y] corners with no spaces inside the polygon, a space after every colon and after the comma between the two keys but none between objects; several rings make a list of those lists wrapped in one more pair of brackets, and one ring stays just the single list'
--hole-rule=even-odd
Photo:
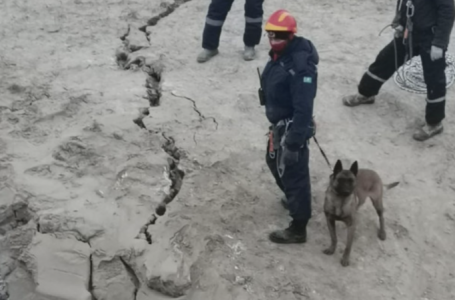
[{"label": "navy jacket with small flag patch on the red-helmeted worker", "polygon": [[319,55],[311,41],[295,36],[284,52],[265,66],[261,76],[266,116],[270,123],[292,119],[285,140],[298,150],[313,133],[313,101],[317,91]]}]

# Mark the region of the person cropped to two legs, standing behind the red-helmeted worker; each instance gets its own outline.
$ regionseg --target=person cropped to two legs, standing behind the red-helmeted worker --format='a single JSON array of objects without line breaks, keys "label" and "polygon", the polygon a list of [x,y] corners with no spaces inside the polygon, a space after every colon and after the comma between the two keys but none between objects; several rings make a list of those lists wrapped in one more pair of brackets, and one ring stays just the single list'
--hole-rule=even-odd
[{"label": "person cropped to two legs, standing behind the red-helmeted worker", "polygon": [[[221,29],[233,2],[234,0],[212,0],[210,3],[202,35],[203,50],[197,57],[198,62],[206,62],[218,54]],[[261,41],[262,15],[264,14],[263,3],[264,0],[245,0],[245,30],[243,34],[245,49],[243,59],[246,61],[254,59],[254,47]]]}]

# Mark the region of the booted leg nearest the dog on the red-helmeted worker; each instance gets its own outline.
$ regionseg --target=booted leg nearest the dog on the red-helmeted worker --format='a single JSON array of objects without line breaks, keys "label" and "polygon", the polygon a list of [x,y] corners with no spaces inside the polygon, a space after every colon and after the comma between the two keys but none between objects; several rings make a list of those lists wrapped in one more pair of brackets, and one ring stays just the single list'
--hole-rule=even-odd
[{"label": "booted leg nearest the dog on the red-helmeted worker", "polygon": [[311,218],[309,155],[308,147],[302,148],[299,161],[295,165],[286,166],[281,176],[292,222],[288,228],[272,232],[269,236],[272,242],[306,242],[306,226]]}]

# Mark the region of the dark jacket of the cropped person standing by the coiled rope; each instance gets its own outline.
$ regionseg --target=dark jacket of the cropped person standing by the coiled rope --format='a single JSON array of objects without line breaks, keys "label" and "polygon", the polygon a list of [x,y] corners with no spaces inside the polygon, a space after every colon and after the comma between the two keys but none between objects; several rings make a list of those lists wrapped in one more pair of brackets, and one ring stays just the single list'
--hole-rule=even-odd
[{"label": "dark jacket of the cropped person standing by the coiled rope", "polygon": [[[394,23],[406,25],[406,3],[398,0],[397,15]],[[432,45],[447,50],[454,23],[454,0],[412,0],[414,4],[414,30],[419,32],[433,31]]]}]

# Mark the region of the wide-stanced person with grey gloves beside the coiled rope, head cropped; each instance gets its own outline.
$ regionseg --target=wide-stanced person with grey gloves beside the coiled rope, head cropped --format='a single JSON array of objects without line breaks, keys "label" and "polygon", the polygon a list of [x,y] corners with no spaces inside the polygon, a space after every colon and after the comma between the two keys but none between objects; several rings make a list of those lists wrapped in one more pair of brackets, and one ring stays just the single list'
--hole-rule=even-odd
[{"label": "wide-stanced person with grey gloves beside the coiled rope, head cropped", "polygon": [[420,55],[427,86],[425,125],[413,134],[425,141],[443,131],[445,118],[445,53],[454,23],[454,0],[398,0],[394,39],[363,74],[358,93],[342,99],[346,106],[373,104],[382,85],[406,59]]}]

